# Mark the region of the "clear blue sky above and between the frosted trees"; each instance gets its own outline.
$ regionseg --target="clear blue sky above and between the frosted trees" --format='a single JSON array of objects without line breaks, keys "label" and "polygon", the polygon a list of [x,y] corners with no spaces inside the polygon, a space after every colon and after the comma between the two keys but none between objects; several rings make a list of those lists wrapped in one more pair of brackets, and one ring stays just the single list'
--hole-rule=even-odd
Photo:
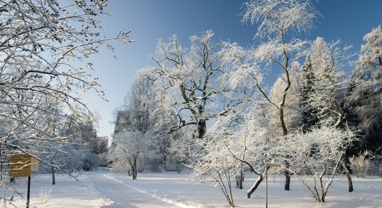
[{"label": "clear blue sky above and between the frosted trees", "polygon": [[[188,37],[211,29],[217,40],[230,40],[242,46],[254,44],[256,26],[241,23],[240,13],[244,0],[112,0],[106,11],[111,17],[102,17],[106,35],[119,30],[131,31],[133,44],[116,44],[117,59],[106,51],[92,57],[93,76],[99,78],[108,103],[94,94],[85,96],[90,110],[101,115],[98,135],[108,136],[114,130],[114,114],[124,102],[135,71],[147,66],[149,54],[155,53],[160,38],[167,40],[173,34],[183,46]],[[341,39],[359,51],[363,35],[382,24],[382,0],[321,0],[313,1],[323,16],[317,19],[315,29],[304,39],[317,36],[331,41]]]}]

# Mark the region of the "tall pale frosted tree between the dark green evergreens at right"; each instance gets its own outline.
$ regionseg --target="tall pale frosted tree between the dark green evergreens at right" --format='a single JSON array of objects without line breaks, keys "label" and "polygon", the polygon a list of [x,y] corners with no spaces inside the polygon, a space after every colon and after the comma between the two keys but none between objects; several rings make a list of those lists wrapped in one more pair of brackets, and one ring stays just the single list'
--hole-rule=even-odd
[{"label": "tall pale frosted tree between the dark green evergreens at right", "polygon": [[306,105],[314,110],[317,125],[335,125],[339,127],[344,121],[344,110],[340,90],[344,87],[344,73],[341,71],[348,60],[349,46],[340,47],[340,41],[327,43],[317,37],[310,47],[310,62],[313,76],[310,81],[313,90],[306,92]]}]

